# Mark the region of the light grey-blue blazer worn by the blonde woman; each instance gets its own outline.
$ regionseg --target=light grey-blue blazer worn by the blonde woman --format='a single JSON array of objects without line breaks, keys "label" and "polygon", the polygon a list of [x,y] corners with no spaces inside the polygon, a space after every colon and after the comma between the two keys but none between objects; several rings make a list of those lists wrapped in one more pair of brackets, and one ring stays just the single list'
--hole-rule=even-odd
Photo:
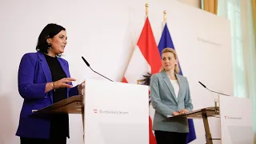
[{"label": "light grey-blue blazer worn by the blonde woman", "polygon": [[189,132],[187,118],[167,119],[167,115],[172,115],[174,111],[182,109],[193,110],[190,86],[186,77],[180,74],[176,74],[176,77],[179,84],[178,98],[175,96],[174,87],[165,71],[153,74],[151,77],[150,96],[155,110],[153,130],[178,133]]}]

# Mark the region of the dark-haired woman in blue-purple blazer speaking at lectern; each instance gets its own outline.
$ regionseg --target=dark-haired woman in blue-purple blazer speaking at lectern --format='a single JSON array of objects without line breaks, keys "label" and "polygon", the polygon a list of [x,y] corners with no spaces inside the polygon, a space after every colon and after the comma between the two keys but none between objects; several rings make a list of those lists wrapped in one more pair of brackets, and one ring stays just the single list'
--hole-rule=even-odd
[{"label": "dark-haired woman in blue-purple blazer speaking at lectern", "polygon": [[16,135],[21,144],[66,144],[68,114],[34,116],[32,110],[81,94],[82,84],[72,86],[69,64],[59,55],[66,47],[66,29],[48,24],[38,37],[36,53],[24,54],[18,69],[18,91],[24,99]]}]

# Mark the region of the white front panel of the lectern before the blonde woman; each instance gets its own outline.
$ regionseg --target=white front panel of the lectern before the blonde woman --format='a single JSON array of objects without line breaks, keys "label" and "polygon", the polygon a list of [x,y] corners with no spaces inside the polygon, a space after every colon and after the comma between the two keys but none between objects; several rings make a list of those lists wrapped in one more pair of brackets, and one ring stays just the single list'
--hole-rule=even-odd
[{"label": "white front panel of the lectern before the blonde woman", "polygon": [[220,95],[219,102],[222,144],[253,144],[250,99]]}]

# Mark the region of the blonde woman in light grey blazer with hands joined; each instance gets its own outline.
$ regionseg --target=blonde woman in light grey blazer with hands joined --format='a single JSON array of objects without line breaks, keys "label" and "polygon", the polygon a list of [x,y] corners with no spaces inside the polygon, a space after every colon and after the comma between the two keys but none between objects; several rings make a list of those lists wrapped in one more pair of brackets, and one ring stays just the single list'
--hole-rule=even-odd
[{"label": "blonde woman in light grey blazer with hands joined", "polygon": [[155,110],[153,130],[157,143],[186,144],[187,118],[167,118],[193,110],[190,86],[179,74],[175,50],[162,50],[162,70],[150,79],[150,95]]}]

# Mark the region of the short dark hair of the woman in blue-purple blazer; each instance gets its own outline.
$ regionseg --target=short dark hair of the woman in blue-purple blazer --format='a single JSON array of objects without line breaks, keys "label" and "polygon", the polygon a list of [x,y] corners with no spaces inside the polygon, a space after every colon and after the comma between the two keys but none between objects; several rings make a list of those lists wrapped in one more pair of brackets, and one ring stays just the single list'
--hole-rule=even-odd
[{"label": "short dark hair of the woman in blue-purple blazer", "polygon": [[54,36],[62,30],[66,29],[54,23],[50,23],[47,26],[45,26],[38,37],[38,44],[36,46],[36,50],[47,54],[50,47],[50,45],[47,42],[47,38],[54,38]]}]

